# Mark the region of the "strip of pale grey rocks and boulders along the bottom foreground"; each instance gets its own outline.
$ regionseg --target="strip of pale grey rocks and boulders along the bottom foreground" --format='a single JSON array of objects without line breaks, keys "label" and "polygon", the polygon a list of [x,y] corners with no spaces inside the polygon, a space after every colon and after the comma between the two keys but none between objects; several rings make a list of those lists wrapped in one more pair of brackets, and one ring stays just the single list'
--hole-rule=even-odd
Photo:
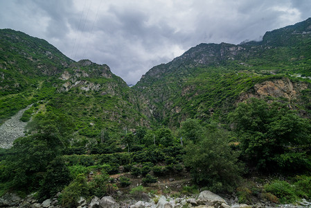
[{"label": "strip of pale grey rocks and boulders along the bottom foreground", "polygon": [[[33,195],[26,198],[20,198],[15,193],[6,193],[0,198],[0,207],[31,207],[31,208],[61,208],[57,197],[44,200],[39,203]],[[90,202],[83,197],[76,202],[75,207],[78,208],[305,208],[311,207],[311,202],[303,199],[292,205],[276,205],[269,202],[258,202],[256,205],[239,204],[238,202],[229,202],[211,191],[202,191],[199,196],[184,196],[181,198],[171,198],[166,196],[150,196],[145,193],[141,200],[127,199],[123,200],[122,196],[118,196],[121,200],[115,200],[112,196],[104,196],[103,198],[94,197]]]}]

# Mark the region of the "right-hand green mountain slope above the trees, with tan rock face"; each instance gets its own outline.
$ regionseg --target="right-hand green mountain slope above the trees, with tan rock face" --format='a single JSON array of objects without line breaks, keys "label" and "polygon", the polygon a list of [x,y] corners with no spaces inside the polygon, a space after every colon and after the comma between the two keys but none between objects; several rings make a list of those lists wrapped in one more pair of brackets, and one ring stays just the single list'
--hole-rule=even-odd
[{"label": "right-hand green mountain slope above the trees, with tan rock face", "polygon": [[[186,118],[224,122],[245,94],[287,98],[310,116],[309,82],[293,77],[310,76],[310,64],[311,18],[267,32],[261,42],[199,44],[150,69],[133,89],[148,98],[157,121],[170,126]],[[280,93],[269,93],[272,88]]]}]

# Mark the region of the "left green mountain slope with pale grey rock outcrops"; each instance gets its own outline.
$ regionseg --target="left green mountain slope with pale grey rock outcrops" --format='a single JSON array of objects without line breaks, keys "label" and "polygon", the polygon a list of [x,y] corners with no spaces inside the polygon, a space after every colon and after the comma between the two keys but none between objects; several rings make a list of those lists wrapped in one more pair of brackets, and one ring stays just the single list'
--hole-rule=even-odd
[{"label": "left green mountain slope with pale grey rock outcrops", "polygon": [[138,96],[106,64],[75,62],[45,40],[10,29],[0,30],[0,95],[0,124],[33,104],[22,120],[59,112],[75,121],[82,138],[150,125]]}]

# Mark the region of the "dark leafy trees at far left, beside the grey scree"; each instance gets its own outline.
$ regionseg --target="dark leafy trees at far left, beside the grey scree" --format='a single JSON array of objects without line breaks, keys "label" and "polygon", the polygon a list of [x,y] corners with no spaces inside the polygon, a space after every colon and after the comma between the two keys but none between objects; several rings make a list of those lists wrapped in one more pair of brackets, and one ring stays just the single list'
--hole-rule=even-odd
[{"label": "dark leafy trees at far left, beside the grey scree", "polygon": [[28,126],[32,135],[16,139],[11,154],[3,161],[4,170],[0,178],[8,189],[26,193],[39,189],[47,167],[69,143],[71,126],[70,119],[62,115],[38,114]]}]

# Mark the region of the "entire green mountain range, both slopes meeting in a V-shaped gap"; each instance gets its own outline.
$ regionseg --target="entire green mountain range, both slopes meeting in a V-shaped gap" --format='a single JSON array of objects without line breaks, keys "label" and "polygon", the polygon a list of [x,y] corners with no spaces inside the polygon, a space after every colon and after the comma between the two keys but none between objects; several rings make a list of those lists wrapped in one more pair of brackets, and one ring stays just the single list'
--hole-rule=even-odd
[{"label": "entire green mountain range, both slopes meeting in a V-shaped gap", "polygon": [[237,103],[253,96],[285,98],[310,116],[309,82],[294,77],[311,76],[310,35],[311,18],[267,32],[261,42],[199,44],[129,87],[106,64],[75,62],[45,40],[3,29],[0,122],[37,103],[28,114],[57,110],[89,138],[100,129],[178,127],[187,118],[223,123]]}]

